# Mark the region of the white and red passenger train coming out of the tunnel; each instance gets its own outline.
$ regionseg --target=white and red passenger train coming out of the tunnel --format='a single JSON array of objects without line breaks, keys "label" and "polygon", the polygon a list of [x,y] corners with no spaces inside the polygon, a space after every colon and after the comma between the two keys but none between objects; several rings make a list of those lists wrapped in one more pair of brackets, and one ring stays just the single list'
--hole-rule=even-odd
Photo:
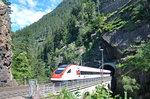
[{"label": "white and red passenger train coming out of the tunnel", "polygon": [[78,65],[61,65],[52,74],[51,81],[71,81],[78,79],[98,78],[111,75],[110,70],[99,68],[78,66]]}]

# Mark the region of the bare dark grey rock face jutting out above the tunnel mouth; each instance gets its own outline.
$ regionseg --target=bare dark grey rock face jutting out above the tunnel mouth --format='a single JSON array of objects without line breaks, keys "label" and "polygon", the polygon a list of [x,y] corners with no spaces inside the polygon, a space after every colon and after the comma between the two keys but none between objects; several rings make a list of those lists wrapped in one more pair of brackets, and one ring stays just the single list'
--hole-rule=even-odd
[{"label": "bare dark grey rock face jutting out above the tunnel mouth", "polygon": [[120,29],[111,33],[105,33],[103,39],[107,43],[115,46],[120,50],[128,48],[130,45],[139,44],[141,41],[149,38],[150,24],[144,24],[134,31],[125,31]]}]

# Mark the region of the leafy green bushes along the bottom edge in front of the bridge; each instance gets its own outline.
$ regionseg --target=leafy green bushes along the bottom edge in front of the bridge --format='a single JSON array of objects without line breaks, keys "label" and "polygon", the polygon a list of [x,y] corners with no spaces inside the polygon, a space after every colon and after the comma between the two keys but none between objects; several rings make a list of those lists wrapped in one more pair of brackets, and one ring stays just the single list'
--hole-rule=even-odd
[{"label": "leafy green bushes along the bottom edge in front of the bridge", "polygon": [[[81,95],[80,95],[79,90],[80,89],[78,89],[74,95],[66,88],[63,88],[57,96],[50,93],[47,98],[50,98],[50,99],[80,99]],[[92,94],[90,94],[89,92],[85,92],[83,94],[83,99],[117,99],[118,97],[119,97],[119,95],[112,97],[112,91],[110,89],[106,89],[104,87],[104,85],[96,87],[96,92],[94,92]]]}]

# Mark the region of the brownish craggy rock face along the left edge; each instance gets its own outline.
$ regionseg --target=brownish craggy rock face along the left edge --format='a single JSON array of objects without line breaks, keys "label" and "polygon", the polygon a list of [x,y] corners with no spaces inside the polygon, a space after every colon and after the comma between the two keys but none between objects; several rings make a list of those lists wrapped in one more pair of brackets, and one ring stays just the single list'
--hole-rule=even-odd
[{"label": "brownish craggy rock face along the left edge", "polygon": [[11,86],[11,23],[7,6],[0,1],[0,87]]}]

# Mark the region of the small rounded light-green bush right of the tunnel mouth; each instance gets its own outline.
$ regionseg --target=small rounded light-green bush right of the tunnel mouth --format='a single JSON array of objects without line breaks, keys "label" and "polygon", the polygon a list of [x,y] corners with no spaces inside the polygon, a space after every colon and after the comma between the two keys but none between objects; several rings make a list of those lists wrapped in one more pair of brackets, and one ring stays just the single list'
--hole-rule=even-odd
[{"label": "small rounded light-green bush right of the tunnel mouth", "polygon": [[122,84],[124,90],[127,92],[133,92],[134,90],[138,90],[140,88],[140,85],[136,82],[136,80],[130,78],[129,76],[123,76]]}]

